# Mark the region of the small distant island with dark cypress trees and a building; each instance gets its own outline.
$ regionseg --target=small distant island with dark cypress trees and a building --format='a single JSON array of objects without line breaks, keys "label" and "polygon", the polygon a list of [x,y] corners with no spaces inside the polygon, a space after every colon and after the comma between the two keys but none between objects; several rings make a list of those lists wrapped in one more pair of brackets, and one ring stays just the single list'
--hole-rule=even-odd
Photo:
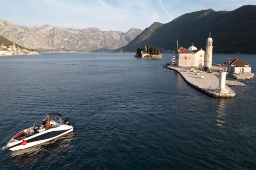
[{"label": "small distant island with dark cypress trees and a building", "polygon": [[137,54],[134,56],[135,58],[144,58],[144,59],[160,59],[163,58],[162,54],[159,52],[159,48],[152,47],[149,48],[149,46],[145,46],[142,48],[137,49]]}]

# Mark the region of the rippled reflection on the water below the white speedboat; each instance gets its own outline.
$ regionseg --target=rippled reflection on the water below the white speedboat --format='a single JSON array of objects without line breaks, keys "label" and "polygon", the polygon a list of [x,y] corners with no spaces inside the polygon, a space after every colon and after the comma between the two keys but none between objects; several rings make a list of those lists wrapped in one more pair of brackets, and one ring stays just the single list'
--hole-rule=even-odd
[{"label": "rippled reflection on the water below the white speedboat", "polygon": [[27,149],[17,150],[10,156],[11,162],[18,167],[33,165],[37,160],[47,160],[58,156],[59,152],[66,151],[72,147],[71,140],[74,139],[74,133],[70,132],[63,137],[54,139],[40,145]]}]

